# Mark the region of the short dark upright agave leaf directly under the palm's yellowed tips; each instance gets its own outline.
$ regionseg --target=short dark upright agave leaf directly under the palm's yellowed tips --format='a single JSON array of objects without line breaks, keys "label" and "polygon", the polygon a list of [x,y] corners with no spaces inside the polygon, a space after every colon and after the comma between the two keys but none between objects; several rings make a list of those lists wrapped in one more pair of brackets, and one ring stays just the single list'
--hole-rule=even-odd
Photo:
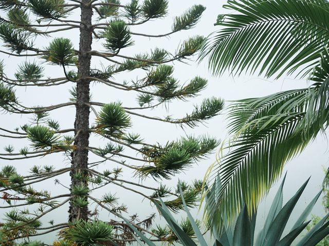
[{"label": "short dark upright agave leaf directly under the palm's yellowed tips", "polygon": [[233,245],[253,245],[255,218],[256,216],[253,214],[250,220],[247,206],[245,204],[236,220],[233,235]]}]

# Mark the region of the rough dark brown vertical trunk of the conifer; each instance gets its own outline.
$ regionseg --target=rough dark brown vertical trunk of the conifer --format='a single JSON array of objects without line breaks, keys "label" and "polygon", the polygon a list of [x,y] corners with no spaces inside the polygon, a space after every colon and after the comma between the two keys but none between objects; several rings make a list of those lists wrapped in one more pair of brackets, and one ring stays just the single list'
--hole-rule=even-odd
[{"label": "rough dark brown vertical trunk of the conifer", "polygon": [[[90,6],[90,0],[81,0],[81,24],[80,24],[80,44],[79,44],[79,80],[77,81],[77,105],[76,105],[76,120],[75,134],[78,136],[75,139],[77,149],[72,155],[72,172],[71,185],[72,189],[75,185],[88,185],[86,177],[88,150],[89,146],[89,84],[90,80],[86,79],[90,73],[91,55],[89,52],[92,49],[92,15],[93,9]],[[74,177],[75,173],[82,173],[84,180],[79,180]],[[86,198],[87,199],[87,198]],[[79,208],[70,201],[69,221],[73,222],[76,219],[88,219],[88,207]]]}]

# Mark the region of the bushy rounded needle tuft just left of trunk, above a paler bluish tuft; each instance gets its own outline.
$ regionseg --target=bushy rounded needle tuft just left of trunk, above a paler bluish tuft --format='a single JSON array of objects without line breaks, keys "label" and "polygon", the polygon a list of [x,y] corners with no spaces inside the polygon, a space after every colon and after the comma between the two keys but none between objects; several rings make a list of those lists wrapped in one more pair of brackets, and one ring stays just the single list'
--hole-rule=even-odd
[{"label": "bushy rounded needle tuft just left of trunk, above a paler bluish tuft", "polygon": [[70,39],[64,37],[54,38],[46,48],[49,52],[42,56],[54,65],[76,65],[78,60]]}]

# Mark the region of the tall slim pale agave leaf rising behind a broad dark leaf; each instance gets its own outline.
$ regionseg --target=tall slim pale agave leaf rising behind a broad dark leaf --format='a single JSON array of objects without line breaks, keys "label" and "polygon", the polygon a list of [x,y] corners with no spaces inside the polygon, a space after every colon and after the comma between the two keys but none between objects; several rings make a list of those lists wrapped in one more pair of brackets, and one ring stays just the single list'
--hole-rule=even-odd
[{"label": "tall slim pale agave leaf rising behind a broad dark leaf", "polygon": [[269,209],[268,215],[265,220],[264,228],[259,232],[257,240],[255,242],[255,246],[263,245],[265,235],[267,234],[268,228],[270,224],[273,222],[274,218],[277,216],[279,211],[282,209],[282,200],[283,200],[283,185],[286,179],[286,175],[284,175],[279,190],[272,202],[271,208]]}]

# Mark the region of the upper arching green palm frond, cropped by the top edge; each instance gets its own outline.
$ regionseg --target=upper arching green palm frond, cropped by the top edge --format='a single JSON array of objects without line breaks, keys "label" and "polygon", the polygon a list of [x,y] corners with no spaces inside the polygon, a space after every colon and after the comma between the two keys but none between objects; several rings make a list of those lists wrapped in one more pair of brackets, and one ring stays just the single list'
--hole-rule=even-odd
[{"label": "upper arching green palm frond, cropped by the top edge", "polygon": [[329,39],[329,3],[325,0],[229,0],[231,14],[219,16],[223,26],[206,42],[214,74],[259,72],[266,77],[298,70],[310,72]]}]

